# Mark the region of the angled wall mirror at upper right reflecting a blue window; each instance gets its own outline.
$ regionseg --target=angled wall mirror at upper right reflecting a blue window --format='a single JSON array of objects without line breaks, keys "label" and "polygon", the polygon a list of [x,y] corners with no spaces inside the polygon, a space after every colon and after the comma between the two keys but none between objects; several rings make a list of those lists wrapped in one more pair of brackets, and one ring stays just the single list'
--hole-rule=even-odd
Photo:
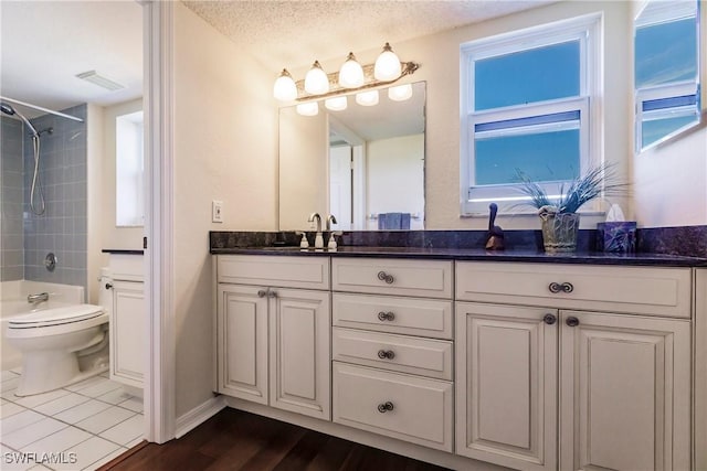
[{"label": "angled wall mirror at upper right reflecting a blue window", "polygon": [[700,119],[699,2],[651,0],[634,23],[636,150]]}]

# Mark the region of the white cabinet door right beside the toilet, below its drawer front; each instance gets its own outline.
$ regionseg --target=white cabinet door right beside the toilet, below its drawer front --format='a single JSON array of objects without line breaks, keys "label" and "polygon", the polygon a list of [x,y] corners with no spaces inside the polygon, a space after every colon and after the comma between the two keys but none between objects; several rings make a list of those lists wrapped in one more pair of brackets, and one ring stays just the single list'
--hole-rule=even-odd
[{"label": "white cabinet door right beside the toilet, below its drawer front", "polygon": [[110,379],[143,387],[146,315],[144,283],[113,281]]}]

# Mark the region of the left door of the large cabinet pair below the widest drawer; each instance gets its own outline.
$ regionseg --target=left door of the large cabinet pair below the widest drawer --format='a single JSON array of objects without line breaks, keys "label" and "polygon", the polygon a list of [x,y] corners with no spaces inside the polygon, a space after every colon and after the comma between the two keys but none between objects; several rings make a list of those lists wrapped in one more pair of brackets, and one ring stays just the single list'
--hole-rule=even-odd
[{"label": "left door of the large cabinet pair below the widest drawer", "polygon": [[557,332],[551,309],[456,303],[457,454],[556,469]]}]

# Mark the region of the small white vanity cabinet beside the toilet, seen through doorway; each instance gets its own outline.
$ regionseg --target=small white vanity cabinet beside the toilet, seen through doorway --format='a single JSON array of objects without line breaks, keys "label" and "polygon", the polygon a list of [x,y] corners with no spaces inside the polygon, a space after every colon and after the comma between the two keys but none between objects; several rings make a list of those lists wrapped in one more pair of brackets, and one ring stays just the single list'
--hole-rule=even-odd
[{"label": "small white vanity cabinet beside the toilet, seen through doorway", "polygon": [[143,255],[110,254],[101,303],[109,317],[110,379],[143,388],[147,306]]}]

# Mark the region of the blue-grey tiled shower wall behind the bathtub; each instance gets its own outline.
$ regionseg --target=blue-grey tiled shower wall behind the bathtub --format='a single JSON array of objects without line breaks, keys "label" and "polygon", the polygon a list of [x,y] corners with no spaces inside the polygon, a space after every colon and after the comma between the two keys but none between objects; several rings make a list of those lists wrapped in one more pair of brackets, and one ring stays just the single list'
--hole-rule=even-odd
[{"label": "blue-grey tiled shower wall behind the bathtub", "polygon": [[[20,168],[20,176],[23,191],[20,190],[20,201],[23,200],[24,224],[23,224],[23,248],[24,253],[24,279],[35,281],[49,281],[63,285],[77,285],[86,288],[86,106],[81,105],[63,110],[63,113],[84,119],[84,122],[73,121],[66,118],[44,115],[31,119],[32,125],[43,131],[53,128],[53,132],[42,132],[40,139],[40,180],[44,192],[46,210],[43,215],[34,215],[30,212],[30,191],[32,188],[32,176],[34,171],[34,151],[32,140],[25,135],[23,141],[24,168]],[[3,120],[4,124],[4,120]],[[18,121],[19,125],[19,121]],[[4,129],[4,128],[3,128]],[[4,136],[4,132],[3,132]],[[13,270],[6,270],[4,267],[4,238],[10,243],[14,242],[11,233],[6,231],[4,205],[6,205],[6,148],[3,138],[2,149],[2,189],[3,189],[3,280],[6,271],[8,276],[15,276]],[[12,162],[9,159],[9,162]],[[14,169],[14,167],[11,167]],[[9,191],[9,190],[8,190]],[[17,197],[14,193],[8,199],[11,205]],[[35,206],[39,207],[39,197],[35,194]],[[13,215],[10,212],[10,215]],[[20,223],[22,214],[20,213]],[[8,225],[11,227],[11,224]],[[6,235],[7,232],[7,235]],[[22,233],[22,226],[20,227]],[[14,247],[8,245],[8,247]],[[49,271],[44,267],[44,257],[53,253],[59,261],[54,271]],[[11,272],[12,271],[12,272]],[[21,271],[18,278],[22,278]],[[11,279],[11,278],[8,278]]]}]

